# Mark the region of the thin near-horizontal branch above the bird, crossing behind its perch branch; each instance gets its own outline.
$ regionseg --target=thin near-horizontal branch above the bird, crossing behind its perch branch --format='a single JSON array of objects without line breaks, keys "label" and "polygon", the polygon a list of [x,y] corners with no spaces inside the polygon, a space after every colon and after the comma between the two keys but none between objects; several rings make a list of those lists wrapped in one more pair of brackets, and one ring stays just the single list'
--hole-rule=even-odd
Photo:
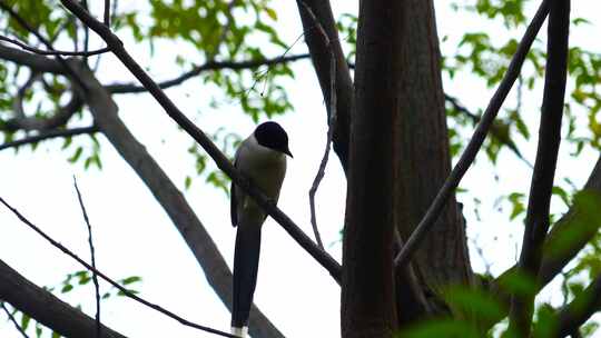
[{"label": "thin near-horizontal branch above the bird, crossing behind its perch branch", "polygon": [[[174,78],[171,80],[162,81],[158,83],[160,89],[167,89],[174,86],[181,84],[184,81],[187,81],[204,71],[210,70],[221,70],[221,69],[255,69],[262,66],[275,66],[279,63],[292,62],[296,60],[308,59],[309,54],[297,54],[289,57],[277,57],[273,59],[263,59],[263,60],[248,60],[248,61],[208,61],[205,64],[196,66],[191,70]],[[135,83],[114,83],[105,86],[105,88],[111,93],[131,93],[131,92],[146,92],[144,86],[137,86]]]}]

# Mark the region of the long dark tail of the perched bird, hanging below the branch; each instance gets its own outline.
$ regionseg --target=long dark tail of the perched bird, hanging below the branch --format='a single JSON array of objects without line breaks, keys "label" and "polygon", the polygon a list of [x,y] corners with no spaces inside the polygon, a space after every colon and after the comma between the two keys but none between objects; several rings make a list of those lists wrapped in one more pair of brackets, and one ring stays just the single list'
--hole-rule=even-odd
[{"label": "long dark tail of the perched bird, hanging below the branch", "polygon": [[233,330],[248,326],[248,315],[257,285],[259,251],[260,226],[239,225],[234,252]]}]

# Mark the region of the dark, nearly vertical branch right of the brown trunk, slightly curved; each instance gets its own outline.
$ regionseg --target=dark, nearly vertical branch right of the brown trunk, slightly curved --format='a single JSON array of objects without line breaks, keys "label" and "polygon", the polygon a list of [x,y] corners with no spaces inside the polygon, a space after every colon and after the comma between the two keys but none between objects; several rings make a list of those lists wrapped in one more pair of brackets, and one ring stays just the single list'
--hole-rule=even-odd
[{"label": "dark, nearly vertical branch right of the brown trunk, slightly curved", "polygon": [[[568,76],[568,40],[570,29],[570,0],[553,1],[549,13],[548,57],[544,95],[539,130],[539,149],[530,187],[524,238],[520,255],[520,272],[535,278],[542,260],[542,250],[549,230],[549,208],[555,176],[561,120]],[[510,331],[520,337],[530,335],[535,295],[511,298]]]}]

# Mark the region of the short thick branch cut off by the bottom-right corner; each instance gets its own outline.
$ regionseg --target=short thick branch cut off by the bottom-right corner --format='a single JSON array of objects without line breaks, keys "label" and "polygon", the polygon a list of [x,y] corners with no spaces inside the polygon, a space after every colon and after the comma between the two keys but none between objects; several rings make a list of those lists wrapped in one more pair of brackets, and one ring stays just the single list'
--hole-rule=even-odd
[{"label": "short thick branch cut off by the bottom-right corner", "polygon": [[587,289],[559,311],[559,329],[554,337],[565,337],[578,331],[598,311],[601,311],[601,276],[597,276]]}]

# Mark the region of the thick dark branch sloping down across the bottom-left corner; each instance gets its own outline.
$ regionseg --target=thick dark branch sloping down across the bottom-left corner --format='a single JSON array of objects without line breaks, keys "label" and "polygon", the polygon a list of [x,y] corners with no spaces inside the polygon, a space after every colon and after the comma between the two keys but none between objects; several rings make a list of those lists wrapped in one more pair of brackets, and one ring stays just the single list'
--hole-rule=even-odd
[{"label": "thick dark branch sloping down across the bottom-left corner", "polygon": [[[0,260],[0,299],[61,336],[93,337],[96,332],[96,321],[92,318],[33,285],[2,260]],[[102,326],[99,337],[125,338],[106,326]]]}]

